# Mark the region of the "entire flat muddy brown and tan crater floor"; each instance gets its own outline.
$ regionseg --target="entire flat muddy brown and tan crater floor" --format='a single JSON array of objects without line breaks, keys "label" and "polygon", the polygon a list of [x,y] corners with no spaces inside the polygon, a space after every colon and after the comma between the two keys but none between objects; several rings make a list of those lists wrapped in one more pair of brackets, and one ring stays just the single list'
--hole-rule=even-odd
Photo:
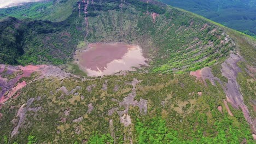
[{"label": "entire flat muddy brown and tan crater floor", "polygon": [[94,43],[78,54],[78,64],[89,76],[102,76],[132,71],[133,67],[146,65],[138,45],[123,43]]}]

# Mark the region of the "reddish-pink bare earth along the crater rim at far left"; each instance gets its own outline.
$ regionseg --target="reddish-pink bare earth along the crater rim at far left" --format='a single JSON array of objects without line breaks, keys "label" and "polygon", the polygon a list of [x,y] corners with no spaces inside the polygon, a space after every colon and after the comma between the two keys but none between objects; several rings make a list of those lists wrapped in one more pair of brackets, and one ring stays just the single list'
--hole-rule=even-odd
[{"label": "reddish-pink bare earth along the crater rim at far left", "polygon": [[[5,103],[10,98],[16,98],[19,96],[19,90],[22,89],[30,81],[19,80],[22,77],[30,77],[32,73],[38,72],[40,77],[37,79],[42,79],[45,76],[57,76],[57,77],[67,77],[71,74],[63,72],[60,68],[51,65],[27,65],[22,66],[10,66],[10,65],[0,65],[0,106]],[[13,79],[6,79],[3,76],[16,74]],[[17,94],[16,94],[17,93]],[[15,95],[16,94],[16,95]]]}]

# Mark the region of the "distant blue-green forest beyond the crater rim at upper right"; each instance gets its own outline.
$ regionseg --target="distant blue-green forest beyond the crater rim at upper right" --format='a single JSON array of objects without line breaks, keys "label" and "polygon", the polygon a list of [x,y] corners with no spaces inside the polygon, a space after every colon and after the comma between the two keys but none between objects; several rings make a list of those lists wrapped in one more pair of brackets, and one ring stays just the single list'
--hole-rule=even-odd
[{"label": "distant blue-green forest beyond the crater rim at upper right", "polygon": [[182,8],[202,15],[207,19],[222,23],[256,38],[256,2],[247,1],[200,1],[200,0],[159,0],[173,7]]}]

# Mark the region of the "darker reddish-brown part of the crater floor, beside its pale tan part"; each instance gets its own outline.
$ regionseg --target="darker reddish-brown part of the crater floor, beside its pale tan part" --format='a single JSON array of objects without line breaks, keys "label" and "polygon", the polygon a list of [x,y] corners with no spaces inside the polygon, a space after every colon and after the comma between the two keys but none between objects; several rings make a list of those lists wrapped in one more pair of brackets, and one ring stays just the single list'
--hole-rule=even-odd
[{"label": "darker reddish-brown part of the crater floor, beside its pale tan part", "polygon": [[89,44],[89,49],[80,56],[80,64],[91,70],[103,71],[114,59],[121,59],[131,45],[127,44]]}]

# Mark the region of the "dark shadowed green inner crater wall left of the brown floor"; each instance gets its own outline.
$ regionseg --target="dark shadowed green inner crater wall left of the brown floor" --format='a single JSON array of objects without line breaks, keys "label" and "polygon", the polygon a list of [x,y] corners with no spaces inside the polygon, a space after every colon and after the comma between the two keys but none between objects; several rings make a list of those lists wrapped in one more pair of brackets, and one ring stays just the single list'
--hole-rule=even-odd
[{"label": "dark shadowed green inner crater wall left of the brown floor", "polygon": [[0,63],[63,64],[83,39],[75,25],[40,20],[19,21],[8,17],[0,22]]}]

